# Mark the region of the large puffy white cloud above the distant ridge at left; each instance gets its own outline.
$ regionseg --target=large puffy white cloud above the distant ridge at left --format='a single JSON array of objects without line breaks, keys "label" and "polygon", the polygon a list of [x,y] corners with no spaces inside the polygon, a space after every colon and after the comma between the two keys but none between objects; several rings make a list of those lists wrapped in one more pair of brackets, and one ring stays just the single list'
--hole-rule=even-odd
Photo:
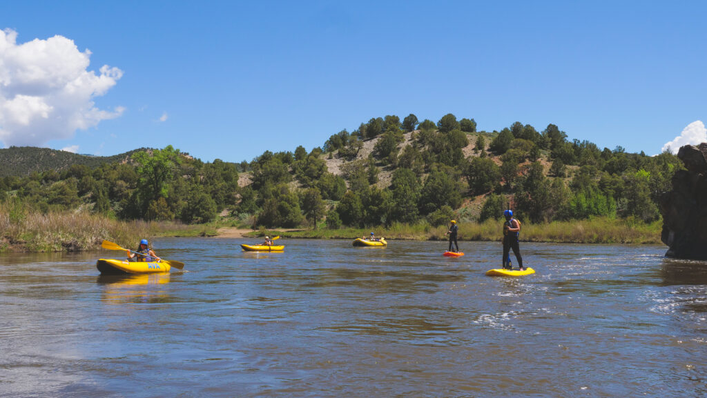
[{"label": "large puffy white cloud above the distant ridge at left", "polygon": [[122,115],[124,107],[100,110],[93,99],[105,95],[123,72],[104,65],[97,76],[87,70],[90,54],[63,36],[18,45],[14,30],[0,30],[0,141],[5,146],[70,139],[77,129]]}]

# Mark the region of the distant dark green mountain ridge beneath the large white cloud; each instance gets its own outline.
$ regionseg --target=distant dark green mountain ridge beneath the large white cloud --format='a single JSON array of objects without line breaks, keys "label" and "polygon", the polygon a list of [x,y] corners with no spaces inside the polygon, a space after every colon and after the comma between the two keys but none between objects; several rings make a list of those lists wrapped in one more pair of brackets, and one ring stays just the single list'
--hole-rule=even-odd
[{"label": "distant dark green mountain ridge beneath the large white cloud", "polygon": [[35,146],[11,146],[0,149],[0,177],[24,177],[33,172],[60,171],[71,165],[96,168],[104,163],[127,161],[133,153],[146,149],[148,148],[134,149],[113,156],[91,156]]}]

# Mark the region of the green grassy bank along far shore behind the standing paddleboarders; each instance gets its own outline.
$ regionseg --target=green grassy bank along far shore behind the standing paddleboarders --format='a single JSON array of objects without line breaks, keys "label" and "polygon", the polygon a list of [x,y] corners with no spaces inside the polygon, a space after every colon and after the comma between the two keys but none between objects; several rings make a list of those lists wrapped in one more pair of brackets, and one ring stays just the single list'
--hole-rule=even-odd
[{"label": "green grassy bank along far shore behind the standing paddleboarders", "polygon": [[[552,223],[523,223],[520,239],[525,242],[557,242],[557,243],[630,243],[630,244],[660,244],[662,222],[641,223],[631,219],[594,218],[582,221],[554,221]],[[282,238],[323,238],[323,239],[355,239],[368,236],[373,231],[376,236],[389,240],[445,240],[446,226],[433,227],[427,223],[414,225],[393,224],[388,228],[341,228],[329,230],[297,230],[281,232],[268,231]],[[253,235],[262,235],[254,232]],[[501,240],[502,228],[500,221],[485,223],[460,223],[460,240]]]}]

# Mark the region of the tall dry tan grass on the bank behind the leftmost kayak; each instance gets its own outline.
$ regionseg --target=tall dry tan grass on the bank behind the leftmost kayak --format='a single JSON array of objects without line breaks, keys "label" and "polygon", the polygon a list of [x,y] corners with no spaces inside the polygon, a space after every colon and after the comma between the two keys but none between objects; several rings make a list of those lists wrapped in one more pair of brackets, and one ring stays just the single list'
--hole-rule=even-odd
[{"label": "tall dry tan grass on the bank behind the leftmost kayak", "polygon": [[141,238],[205,235],[216,235],[216,230],[170,222],[116,221],[74,211],[40,213],[22,204],[0,203],[0,252],[95,250],[103,240],[132,247]]}]

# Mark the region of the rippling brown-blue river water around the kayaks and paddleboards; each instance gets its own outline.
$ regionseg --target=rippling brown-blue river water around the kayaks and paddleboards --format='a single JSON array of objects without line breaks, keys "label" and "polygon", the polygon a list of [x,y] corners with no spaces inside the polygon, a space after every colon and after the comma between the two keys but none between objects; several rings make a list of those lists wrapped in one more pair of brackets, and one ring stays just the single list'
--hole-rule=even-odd
[{"label": "rippling brown-blue river water around the kayaks and paddleboards", "polygon": [[240,243],[117,278],[122,252],[0,254],[0,397],[707,396],[707,263],[662,246],[522,243],[508,279],[496,242]]}]

